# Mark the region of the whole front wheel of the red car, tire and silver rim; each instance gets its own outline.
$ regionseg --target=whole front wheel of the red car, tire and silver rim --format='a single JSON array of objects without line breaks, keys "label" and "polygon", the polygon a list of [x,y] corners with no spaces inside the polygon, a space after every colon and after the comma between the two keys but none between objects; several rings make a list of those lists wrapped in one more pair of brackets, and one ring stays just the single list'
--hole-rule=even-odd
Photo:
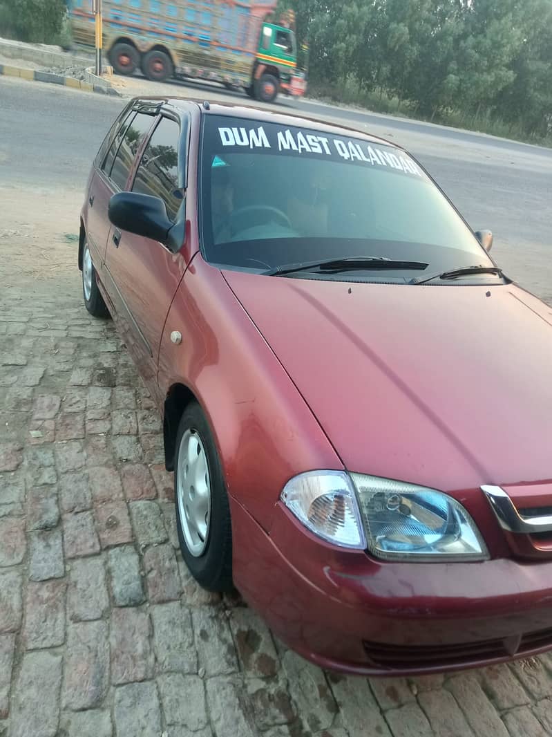
[{"label": "whole front wheel of the red car, tire and silver rim", "polygon": [[177,432],[174,503],[183,559],[210,591],[232,589],[230,506],[213,436],[197,403],[185,409]]}]

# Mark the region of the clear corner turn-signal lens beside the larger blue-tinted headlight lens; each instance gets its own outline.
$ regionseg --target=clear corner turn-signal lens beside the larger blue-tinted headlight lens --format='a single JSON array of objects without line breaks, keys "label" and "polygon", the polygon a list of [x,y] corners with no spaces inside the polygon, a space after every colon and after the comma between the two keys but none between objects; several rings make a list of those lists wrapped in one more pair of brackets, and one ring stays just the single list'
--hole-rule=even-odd
[{"label": "clear corner turn-signal lens beside the larger blue-tinted headlight lens", "polygon": [[366,548],[355,489],[346,473],[302,473],[286,483],[281,499],[319,537],[344,548]]}]

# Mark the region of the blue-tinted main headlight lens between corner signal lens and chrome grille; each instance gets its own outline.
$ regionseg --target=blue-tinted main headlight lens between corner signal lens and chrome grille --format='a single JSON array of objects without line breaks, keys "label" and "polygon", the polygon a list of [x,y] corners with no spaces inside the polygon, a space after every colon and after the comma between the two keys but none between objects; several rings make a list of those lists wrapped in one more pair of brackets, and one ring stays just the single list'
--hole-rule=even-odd
[{"label": "blue-tinted main headlight lens between corner signal lens and chrome grille", "polygon": [[486,545],[470,515],[434,489],[351,474],[367,529],[368,548],[383,559],[485,560]]}]

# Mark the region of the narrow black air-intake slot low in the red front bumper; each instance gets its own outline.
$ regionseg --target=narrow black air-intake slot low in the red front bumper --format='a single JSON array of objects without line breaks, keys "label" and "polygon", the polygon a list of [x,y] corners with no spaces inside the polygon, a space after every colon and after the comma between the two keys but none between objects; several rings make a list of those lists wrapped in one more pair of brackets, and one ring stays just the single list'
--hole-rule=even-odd
[{"label": "narrow black air-intake slot low in the red front bumper", "polygon": [[364,640],[363,646],[369,660],[383,668],[410,670],[413,668],[438,668],[463,666],[481,661],[520,657],[538,650],[552,648],[552,629],[528,632],[520,638],[520,644],[512,652],[512,638],[480,640],[477,643],[453,645],[391,645]]}]

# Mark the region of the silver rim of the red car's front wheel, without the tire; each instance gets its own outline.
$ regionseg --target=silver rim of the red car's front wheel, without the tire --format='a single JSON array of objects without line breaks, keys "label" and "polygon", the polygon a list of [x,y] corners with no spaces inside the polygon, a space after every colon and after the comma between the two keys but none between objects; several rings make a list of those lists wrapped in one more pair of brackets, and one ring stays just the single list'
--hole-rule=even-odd
[{"label": "silver rim of the red car's front wheel, without the tire", "polygon": [[186,547],[198,558],[209,539],[210,476],[205,447],[196,430],[186,430],[180,440],[177,503]]}]

